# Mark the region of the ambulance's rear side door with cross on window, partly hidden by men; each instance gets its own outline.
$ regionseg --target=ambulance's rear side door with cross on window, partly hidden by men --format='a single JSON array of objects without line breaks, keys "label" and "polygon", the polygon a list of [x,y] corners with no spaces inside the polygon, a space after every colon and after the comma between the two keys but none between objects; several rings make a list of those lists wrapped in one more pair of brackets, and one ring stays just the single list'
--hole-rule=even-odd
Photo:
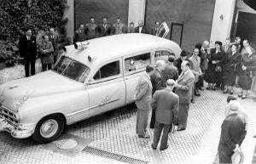
[{"label": "ambulance's rear side door with cross on window, partly hidden by men", "polygon": [[134,102],[132,97],[135,94],[138,78],[146,70],[146,66],[152,63],[151,52],[143,52],[126,56],[124,62],[124,75],[126,86],[126,101],[125,104]]}]

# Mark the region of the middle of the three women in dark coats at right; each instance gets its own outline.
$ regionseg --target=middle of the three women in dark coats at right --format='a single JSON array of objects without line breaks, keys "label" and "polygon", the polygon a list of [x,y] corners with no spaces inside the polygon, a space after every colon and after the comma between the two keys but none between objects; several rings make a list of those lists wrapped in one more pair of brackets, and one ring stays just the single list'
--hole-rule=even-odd
[{"label": "middle of the three women in dark coats at right", "polygon": [[236,84],[236,72],[240,64],[241,54],[238,52],[238,44],[233,44],[224,64],[224,93],[230,91],[230,94],[233,94],[233,89]]}]

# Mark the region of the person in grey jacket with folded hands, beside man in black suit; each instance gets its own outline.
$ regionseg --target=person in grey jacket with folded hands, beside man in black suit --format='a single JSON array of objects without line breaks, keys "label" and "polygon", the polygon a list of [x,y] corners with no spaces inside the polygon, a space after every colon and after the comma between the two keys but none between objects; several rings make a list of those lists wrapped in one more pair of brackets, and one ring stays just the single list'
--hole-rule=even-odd
[{"label": "person in grey jacket with folded hands, beside man in black suit", "polygon": [[39,45],[39,51],[41,54],[41,62],[42,62],[42,71],[51,70],[52,64],[54,62],[53,52],[54,48],[49,42],[48,36],[43,36],[43,41]]}]

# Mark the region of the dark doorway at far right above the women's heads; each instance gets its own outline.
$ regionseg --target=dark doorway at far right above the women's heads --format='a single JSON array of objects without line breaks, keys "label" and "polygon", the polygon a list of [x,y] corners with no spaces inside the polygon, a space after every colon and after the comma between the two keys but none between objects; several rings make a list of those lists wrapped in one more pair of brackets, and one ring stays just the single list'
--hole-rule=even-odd
[{"label": "dark doorway at far right above the women's heads", "polygon": [[236,36],[241,39],[248,39],[253,44],[256,43],[256,14],[239,12],[236,28]]}]

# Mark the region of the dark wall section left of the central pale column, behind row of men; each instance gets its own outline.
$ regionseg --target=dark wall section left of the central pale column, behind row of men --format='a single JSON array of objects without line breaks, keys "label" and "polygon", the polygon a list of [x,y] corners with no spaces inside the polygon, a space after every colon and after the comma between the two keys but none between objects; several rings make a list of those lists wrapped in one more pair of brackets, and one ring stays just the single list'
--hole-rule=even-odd
[{"label": "dark wall section left of the central pale column, behind row of men", "polygon": [[102,23],[102,17],[107,16],[113,24],[117,17],[127,24],[129,0],[74,0],[75,27],[89,22],[95,17],[96,24]]}]

